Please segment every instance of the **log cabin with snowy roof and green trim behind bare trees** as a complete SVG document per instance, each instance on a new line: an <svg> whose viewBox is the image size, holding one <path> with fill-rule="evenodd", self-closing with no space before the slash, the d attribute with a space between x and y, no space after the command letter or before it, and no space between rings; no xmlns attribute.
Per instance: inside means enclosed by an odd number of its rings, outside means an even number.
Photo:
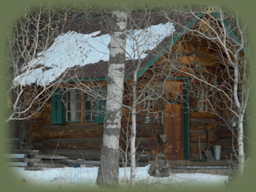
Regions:
<svg viewBox="0 0 256 192"><path fill-rule="evenodd" d="M214 145L222 146L221 159L229 158L233 153L233 134L219 115L225 116L226 111L221 106L217 108L218 113L212 110L211 102L218 101L207 99L208 94L214 93L204 83L226 75L220 60L220 54L224 54L209 39L191 33L207 33L209 26L217 23L207 14L172 19L170 22L163 16L152 16L150 23L134 29L134 34L143 36L143 39L135 36L142 42L141 50L133 47L131 34L127 37L126 55L130 57L127 56L125 63L120 151L128 150L131 117L125 105L131 105L134 68L140 65L137 95L141 99L136 116L138 161L158 155L175 160L205 159L204 151ZM71 159L99 160L110 42L107 21L104 22L99 18L67 21L64 32L31 61L36 67L14 79L27 87L27 97L33 91L31 82L45 87L61 81L43 110L26 120L25 142L32 149ZM234 34L229 35L236 39ZM139 49L140 63L135 49ZM36 78L31 80L31 76Z"/></svg>

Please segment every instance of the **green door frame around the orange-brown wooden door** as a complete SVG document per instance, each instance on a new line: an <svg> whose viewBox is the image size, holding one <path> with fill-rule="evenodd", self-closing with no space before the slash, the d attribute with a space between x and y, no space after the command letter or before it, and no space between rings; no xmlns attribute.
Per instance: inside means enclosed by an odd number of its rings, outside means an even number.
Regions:
<svg viewBox="0 0 256 192"><path fill-rule="evenodd" d="M173 76L171 78L167 78L168 80L173 81L183 81L183 144L184 144L184 159L189 160L190 156L190 147L189 147L189 131L190 131L190 123L189 123L189 106L190 106L190 77L187 76ZM164 91L165 94L165 91ZM164 95L165 97L165 95ZM163 116L164 118L164 116ZM163 123L163 132L165 132L164 123ZM164 153L164 147L163 147Z"/></svg>

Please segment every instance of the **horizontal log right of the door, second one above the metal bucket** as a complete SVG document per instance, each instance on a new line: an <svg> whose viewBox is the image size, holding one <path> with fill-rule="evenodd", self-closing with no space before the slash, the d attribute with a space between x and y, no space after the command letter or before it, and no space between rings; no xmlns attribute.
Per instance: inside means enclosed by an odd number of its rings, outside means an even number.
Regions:
<svg viewBox="0 0 256 192"><path fill-rule="evenodd" d="M218 123L213 119L202 119L190 117L190 130L206 130L205 125L208 125L209 130L216 129Z"/></svg>

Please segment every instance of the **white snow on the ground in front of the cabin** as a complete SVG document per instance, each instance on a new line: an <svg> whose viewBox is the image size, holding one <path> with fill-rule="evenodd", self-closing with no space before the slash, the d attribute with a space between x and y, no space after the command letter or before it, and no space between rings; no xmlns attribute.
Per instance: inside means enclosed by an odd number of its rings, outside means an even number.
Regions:
<svg viewBox="0 0 256 192"><path fill-rule="evenodd" d="M27 184L42 184L48 187L97 187L96 178L98 167L65 167L45 169L41 171L27 171L23 167L11 167L17 172L20 180L25 179ZM228 176L210 175L205 173L171 173L169 177L157 178L149 176L149 166L136 168L136 182L140 187L171 187L187 188L193 187L225 187ZM126 172L126 174L125 174ZM130 167L119 169L120 185L127 187L126 178L130 178Z"/></svg>

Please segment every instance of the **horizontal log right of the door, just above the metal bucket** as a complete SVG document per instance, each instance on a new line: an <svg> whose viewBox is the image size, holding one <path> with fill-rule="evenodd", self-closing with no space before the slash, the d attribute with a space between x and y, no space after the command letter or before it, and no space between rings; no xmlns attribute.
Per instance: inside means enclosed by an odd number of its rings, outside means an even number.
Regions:
<svg viewBox="0 0 256 192"><path fill-rule="evenodd" d="M198 142L198 135L201 143L207 143L206 138L207 131L206 130L190 130L190 142L196 143ZM208 141L210 143L215 143L219 138L214 134L214 131L208 131Z"/></svg>

